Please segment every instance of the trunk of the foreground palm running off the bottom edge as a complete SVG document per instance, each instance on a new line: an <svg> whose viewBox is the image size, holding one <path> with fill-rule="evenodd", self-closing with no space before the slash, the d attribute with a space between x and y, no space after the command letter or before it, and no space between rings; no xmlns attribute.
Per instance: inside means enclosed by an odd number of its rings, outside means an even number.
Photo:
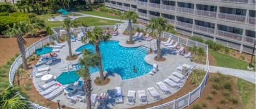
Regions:
<svg viewBox="0 0 256 109"><path fill-rule="evenodd" d="M84 79L85 84L85 92L86 92L86 105L87 109L91 109L91 91L92 91L92 83L91 83L91 76L90 74L86 79Z"/></svg>

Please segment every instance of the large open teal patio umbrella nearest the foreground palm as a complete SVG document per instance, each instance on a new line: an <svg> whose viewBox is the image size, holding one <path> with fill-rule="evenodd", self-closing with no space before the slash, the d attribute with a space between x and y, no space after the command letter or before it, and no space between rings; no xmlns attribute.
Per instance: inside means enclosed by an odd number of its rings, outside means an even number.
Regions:
<svg viewBox="0 0 256 109"><path fill-rule="evenodd" d="M75 71L62 72L61 75L57 77L57 81L62 85L73 84L78 81L79 76Z"/></svg>

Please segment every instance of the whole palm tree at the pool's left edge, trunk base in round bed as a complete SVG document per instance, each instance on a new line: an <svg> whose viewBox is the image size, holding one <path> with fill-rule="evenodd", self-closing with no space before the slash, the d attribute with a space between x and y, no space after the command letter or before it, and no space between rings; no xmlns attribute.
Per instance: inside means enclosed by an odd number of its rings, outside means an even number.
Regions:
<svg viewBox="0 0 256 109"><path fill-rule="evenodd" d="M82 42L86 42L88 40L88 43L93 44L95 47L95 52L97 55L100 57L100 49L99 49L99 43L100 41L106 41L110 38L110 35L102 35L102 28L95 27L93 31L87 31L86 37L82 39ZM104 81L104 74L102 70L102 60L101 57L96 63L97 66L99 67L99 77L100 77L100 82Z"/></svg>

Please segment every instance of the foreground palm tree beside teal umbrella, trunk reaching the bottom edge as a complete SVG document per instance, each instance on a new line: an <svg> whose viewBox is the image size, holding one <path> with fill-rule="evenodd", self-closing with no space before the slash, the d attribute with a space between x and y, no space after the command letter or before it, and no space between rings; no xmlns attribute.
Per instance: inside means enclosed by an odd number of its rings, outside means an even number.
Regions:
<svg viewBox="0 0 256 109"><path fill-rule="evenodd" d="M78 70L78 75L84 78L84 86L86 92L87 109L91 109L91 92L92 92L92 80L89 73L89 67L94 67L97 61L100 59L99 55L91 54L88 50L82 50L82 57L79 59L79 64L82 66Z"/></svg>

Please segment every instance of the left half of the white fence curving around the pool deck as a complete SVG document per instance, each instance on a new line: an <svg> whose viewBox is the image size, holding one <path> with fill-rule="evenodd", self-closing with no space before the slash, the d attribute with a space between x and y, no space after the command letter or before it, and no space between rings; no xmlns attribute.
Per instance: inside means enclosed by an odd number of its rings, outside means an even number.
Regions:
<svg viewBox="0 0 256 109"><path fill-rule="evenodd" d="M102 25L99 26L100 28L109 28L110 30L114 30L115 25ZM82 27L82 28L75 28L73 29L74 33L80 33L88 31L88 30L92 30L94 27ZM26 48L25 50L25 54L26 54L26 58L33 55L35 50L38 48L43 47L45 44L47 43L51 43L53 42L53 40L58 39L59 37L59 30L62 29L62 27L55 27L55 28L51 28L53 31L53 35L49 35L47 37L45 37L44 39L40 39L39 41L33 43L31 46L29 46L28 48ZM15 71L19 68L19 66L22 65L22 59L21 56L19 55L15 61L13 62L13 64L10 67L9 70L9 84L11 86L13 86L13 80L14 80L14 75L15 75ZM39 106L38 104L34 104L33 102L31 102L31 107L30 108L37 108L37 109L49 109L43 106Z"/></svg>

